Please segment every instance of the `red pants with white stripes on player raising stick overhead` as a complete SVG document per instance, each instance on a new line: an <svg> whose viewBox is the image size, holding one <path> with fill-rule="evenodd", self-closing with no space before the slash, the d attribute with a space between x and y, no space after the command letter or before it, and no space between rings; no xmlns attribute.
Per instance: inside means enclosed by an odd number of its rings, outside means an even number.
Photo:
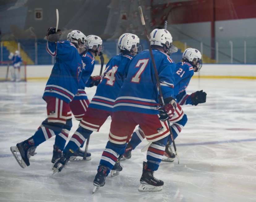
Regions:
<svg viewBox="0 0 256 202"><path fill-rule="evenodd" d="M67 119L71 119L72 114L70 111L69 104L64 102L61 99L55 99L55 111L52 111L54 108L53 102L47 104L47 121L51 123L63 123L66 124Z"/></svg>

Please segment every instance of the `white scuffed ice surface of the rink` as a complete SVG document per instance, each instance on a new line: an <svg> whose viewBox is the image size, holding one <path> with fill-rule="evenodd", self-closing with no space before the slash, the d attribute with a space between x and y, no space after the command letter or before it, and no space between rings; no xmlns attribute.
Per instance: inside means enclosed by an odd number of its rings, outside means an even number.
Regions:
<svg viewBox="0 0 256 202"><path fill-rule="evenodd" d="M54 137L37 147L31 165L21 168L10 147L32 136L46 118L41 98L46 81L0 83L0 201L14 202L250 202L256 201L256 81L192 79L188 93L207 92L207 102L184 106L188 122L176 139L181 164L162 162L155 176L161 192L138 192L144 140L122 162L119 176L108 177L92 195L92 181L108 141L110 119L91 135L92 160L69 162L52 175ZM86 89L90 99L96 88ZM73 133L78 121L73 119Z"/></svg>

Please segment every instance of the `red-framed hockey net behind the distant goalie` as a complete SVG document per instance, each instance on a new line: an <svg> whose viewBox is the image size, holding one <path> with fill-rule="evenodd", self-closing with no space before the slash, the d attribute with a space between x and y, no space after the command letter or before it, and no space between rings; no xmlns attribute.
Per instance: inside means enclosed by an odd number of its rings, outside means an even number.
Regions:
<svg viewBox="0 0 256 202"><path fill-rule="evenodd" d="M0 61L0 81L12 81L13 65L11 61ZM20 81L27 81L27 63L23 62L19 68Z"/></svg>

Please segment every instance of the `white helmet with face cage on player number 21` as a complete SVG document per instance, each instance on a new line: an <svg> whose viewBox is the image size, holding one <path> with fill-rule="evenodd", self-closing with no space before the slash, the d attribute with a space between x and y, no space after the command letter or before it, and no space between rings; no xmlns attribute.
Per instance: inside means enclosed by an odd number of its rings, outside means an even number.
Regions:
<svg viewBox="0 0 256 202"><path fill-rule="evenodd" d="M193 65L195 72L203 66L202 55L195 48L187 48L182 54L182 59Z"/></svg>

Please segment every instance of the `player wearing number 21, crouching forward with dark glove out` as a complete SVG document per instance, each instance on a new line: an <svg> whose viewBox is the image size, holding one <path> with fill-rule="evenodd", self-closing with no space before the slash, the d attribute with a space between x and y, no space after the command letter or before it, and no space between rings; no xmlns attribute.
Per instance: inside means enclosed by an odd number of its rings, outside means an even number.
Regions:
<svg viewBox="0 0 256 202"><path fill-rule="evenodd" d="M174 95L177 103L179 105L191 104L198 105L199 103L206 102L206 93L201 91L196 91L191 95L186 94L186 88L189 85L190 79L194 75L194 72L198 72L203 65L202 55L200 51L194 48L187 48L182 55L182 61L176 64L174 71ZM181 107L177 106L175 111L175 116L170 120L171 129L173 132L173 138L177 138L183 127L187 122L187 116L183 113ZM139 143L145 138L143 131L139 128L136 130L130 142L127 144L126 151L123 155L123 159L131 158L131 151L139 145ZM171 137L168 137L168 144L165 147L164 157L162 161L173 162L175 154L171 149Z"/></svg>

